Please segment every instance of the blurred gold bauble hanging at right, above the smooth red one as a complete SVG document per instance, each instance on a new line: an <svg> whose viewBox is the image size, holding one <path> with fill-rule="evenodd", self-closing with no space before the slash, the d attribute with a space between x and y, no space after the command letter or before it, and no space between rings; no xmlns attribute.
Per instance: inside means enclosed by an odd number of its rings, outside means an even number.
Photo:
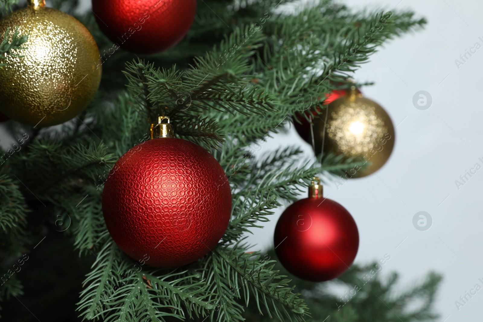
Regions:
<svg viewBox="0 0 483 322"><path fill-rule="evenodd" d="M355 157L364 165L346 171L350 178L365 177L386 163L395 134L389 115L379 104L362 97L353 86L345 97L330 103L326 113L313 122L316 154L323 149L324 153Z"/></svg>

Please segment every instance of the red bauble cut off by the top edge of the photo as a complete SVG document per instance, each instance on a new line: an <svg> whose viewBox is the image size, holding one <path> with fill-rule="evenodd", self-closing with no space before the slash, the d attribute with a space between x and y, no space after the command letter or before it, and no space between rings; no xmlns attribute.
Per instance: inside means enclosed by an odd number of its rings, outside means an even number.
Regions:
<svg viewBox="0 0 483 322"><path fill-rule="evenodd" d="M114 44L151 54L185 37L195 17L196 0L92 0L92 11Z"/></svg>

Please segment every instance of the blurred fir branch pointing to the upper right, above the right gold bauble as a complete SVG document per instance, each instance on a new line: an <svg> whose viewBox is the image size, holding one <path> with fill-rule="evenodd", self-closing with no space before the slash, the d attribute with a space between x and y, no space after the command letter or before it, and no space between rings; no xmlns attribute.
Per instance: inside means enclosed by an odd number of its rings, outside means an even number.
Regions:
<svg viewBox="0 0 483 322"><path fill-rule="evenodd" d="M399 19L402 22L394 24ZM347 83L350 73L383 42L426 23L407 13L352 14L332 1L272 22L264 29L270 37L253 67L260 73L259 84L286 105L298 105L303 98L313 106L323 102L325 94L337 87L334 84Z"/></svg>

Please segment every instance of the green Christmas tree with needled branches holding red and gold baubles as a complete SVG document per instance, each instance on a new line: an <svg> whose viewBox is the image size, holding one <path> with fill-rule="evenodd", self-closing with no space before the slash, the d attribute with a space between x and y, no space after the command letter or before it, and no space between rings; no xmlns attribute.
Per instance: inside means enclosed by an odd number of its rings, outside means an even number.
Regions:
<svg viewBox="0 0 483 322"><path fill-rule="evenodd" d="M1 0L3 14L20 8L17 2ZM379 46L422 28L424 19L404 11L353 12L329 0L200 0L181 42L141 56L113 51L93 12L76 14L79 1L47 4L92 33L102 80L88 108L62 126L5 124L16 144L3 152L0 170L4 321L437 318L435 273L403 293L395 288L396 273L387 280L375 273L377 263L353 265L331 282L307 282L288 273L273 250L250 252L244 241L282 200L297 200L313 176L329 180L360 165L334 154L300 164L297 147L254 155L254 146L290 126L308 108L301 104L312 100L311 111L322 112L326 94L351 86L352 73ZM1 37L0 63L22 55L28 34L12 28ZM101 206L107 174L149 138L161 115L170 117L176 137L216 158L232 193L230 223L216 247L169 269L122 252ZM331 293L334 283L346 291Z"/></svg>

